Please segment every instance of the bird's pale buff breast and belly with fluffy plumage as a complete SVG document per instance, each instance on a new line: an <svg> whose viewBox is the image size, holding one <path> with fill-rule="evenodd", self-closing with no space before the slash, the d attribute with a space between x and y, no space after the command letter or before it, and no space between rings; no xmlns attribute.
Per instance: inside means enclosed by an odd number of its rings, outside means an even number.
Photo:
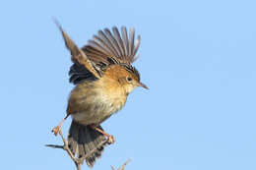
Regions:
<svg viewBox="0 0 256 170"><path fill-rule="evenodd" d="M125 105L127 95L118 88L106 89L105 86L83 85L70 96L76 102L77 110L72 114L73 119L83 124L100 124L113 113L118 112ZM69 101L70 103L70 101Z"/></svg>

